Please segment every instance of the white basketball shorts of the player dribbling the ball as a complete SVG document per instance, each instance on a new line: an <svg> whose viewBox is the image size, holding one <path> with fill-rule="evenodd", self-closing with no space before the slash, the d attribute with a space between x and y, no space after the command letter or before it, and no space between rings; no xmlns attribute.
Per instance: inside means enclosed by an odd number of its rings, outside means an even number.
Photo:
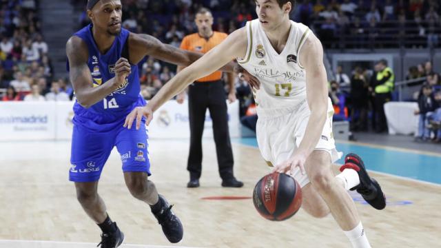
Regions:
<svg viewBox="0 0 441 248"><path fill-rule="evenodd" d="M263 158L269 166L287 161L305 135L306 126L311 115L307 101L283 109L259 110L258 108L257 114L256 136ZM332 134L333 114L334 109L331 99L328 98L328 116L315 150L329 152L331 163L338 161L342 156L342 153L336 149ZM297 180L301 187L309 183L307 174L302 175L298 167L291 176Z"/></svg>

